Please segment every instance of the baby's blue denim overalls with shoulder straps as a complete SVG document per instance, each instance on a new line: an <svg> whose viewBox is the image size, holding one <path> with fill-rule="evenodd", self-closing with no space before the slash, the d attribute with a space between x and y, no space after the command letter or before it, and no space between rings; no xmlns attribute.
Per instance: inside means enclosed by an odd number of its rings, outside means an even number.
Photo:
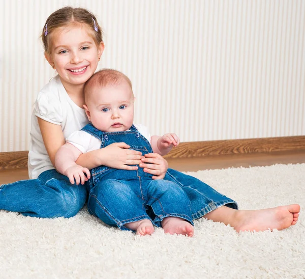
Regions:
<svg viewBox="0 0 305 279"><path fill-rule="evenodd" d="M91 123L83 131L99 138L101 148L124 142L142 155L153 150L147 139L132 125L129 131L102 132ZM88 210L110 226L130 230L129 222L149 219L157 227L165 217L180 217L193 225L191 202L175 182L153 180L142 168L135 171L99 166L91 171Z"/></svg>

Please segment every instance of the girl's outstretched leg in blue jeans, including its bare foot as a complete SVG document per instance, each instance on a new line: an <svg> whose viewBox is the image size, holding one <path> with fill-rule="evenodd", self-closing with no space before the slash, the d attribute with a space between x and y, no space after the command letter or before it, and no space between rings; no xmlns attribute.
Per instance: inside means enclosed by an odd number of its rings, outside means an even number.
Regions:
<svg viewBox="0 0 305 279"><path fill-rule="evenodd" d="M261 210L236 210L237 204L199 179L168 169L164 179L174 181L187 193L193 219L204 216L209 220L230 224L236 231L282 230L295 225L299 205L279 206Z"/></svg>

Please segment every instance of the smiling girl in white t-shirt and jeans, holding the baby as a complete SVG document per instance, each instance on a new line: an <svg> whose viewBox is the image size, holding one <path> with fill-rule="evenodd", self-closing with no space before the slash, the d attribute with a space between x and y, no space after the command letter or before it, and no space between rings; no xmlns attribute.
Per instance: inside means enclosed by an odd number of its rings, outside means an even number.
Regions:
<svg viewBox="0 0 305 279"><path fill-rule="evenodd" d="M28 169L31 180L0 186L0 209L36 217L74 216L86 201L82 181L72 185L54 169L54 156L65 138L88 123L82 106L84 83L92 76L104 50L96 17L85 9L65 7L52 13L43 28L45 58L58 75L38 94L32 115ZM263 210L236 210L237 205L198 179L174 170L156 153L141 156L124 143L82 154L77 164L88 169L107 165L144 172L178 183L191 201L192 218L230 224L236 231L285 229L295 225L299 205ZM164 177L165 176L165 177Z"/></svg>

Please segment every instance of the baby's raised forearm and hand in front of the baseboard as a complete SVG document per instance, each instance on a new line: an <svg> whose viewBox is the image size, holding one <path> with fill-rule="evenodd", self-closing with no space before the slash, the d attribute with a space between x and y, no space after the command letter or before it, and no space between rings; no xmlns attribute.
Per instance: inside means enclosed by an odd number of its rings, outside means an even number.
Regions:
<svg viewBox="0 0 305 279"><path fill-rule="evenodd" d="M150 138L150 144L154 153L158 153L161 156L166 155L175 146L180 143L179 137L174 133L165 134L163 136L153 135Z"/></svg>

